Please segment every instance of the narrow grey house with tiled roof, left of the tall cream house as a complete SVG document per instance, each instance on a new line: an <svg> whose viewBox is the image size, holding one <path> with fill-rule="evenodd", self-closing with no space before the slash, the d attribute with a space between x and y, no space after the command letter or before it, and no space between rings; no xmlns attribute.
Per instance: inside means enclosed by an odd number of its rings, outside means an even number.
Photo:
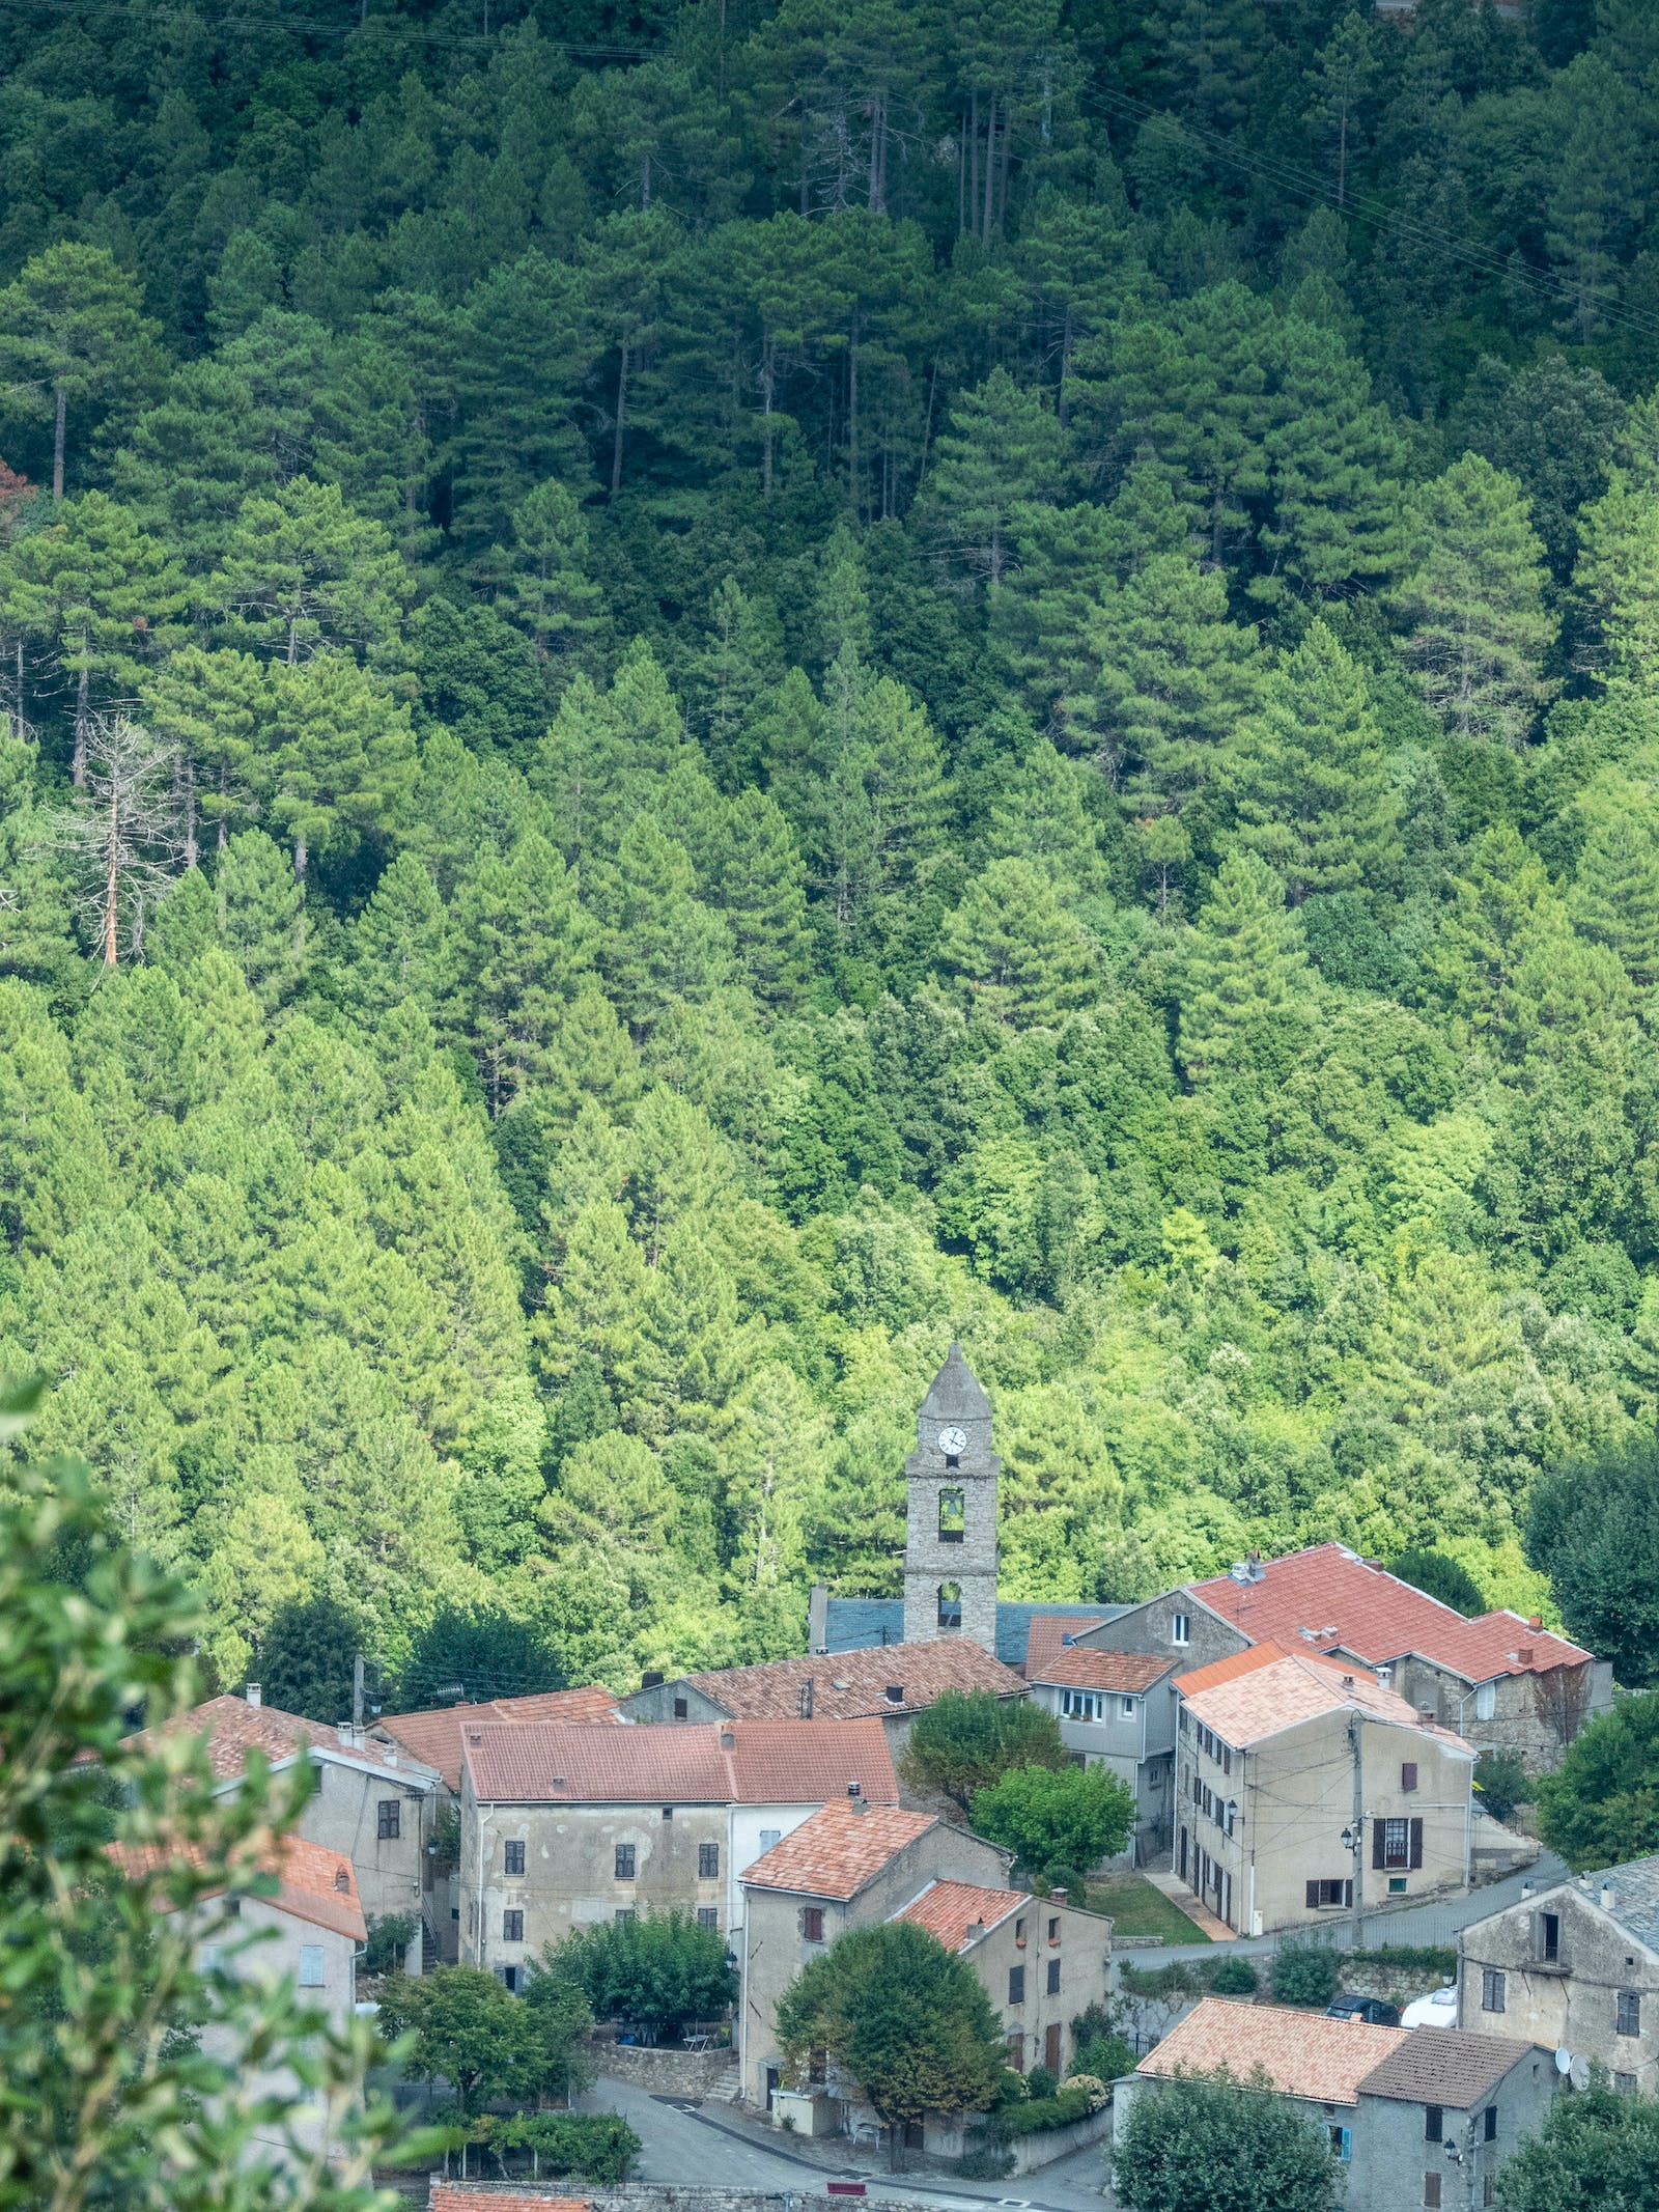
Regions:
<svg viewBox="0 0 1659 2212"><path fill-rule="evenodd" d="M1037 1619L1026 1646L1031 1697L1060 1723L1079 1765L1104 1765L1135 1792L1130 1865L1170 1856L1175 1803L1175 1652L1119 1652L1082 1644L1088 1619Z"/></svg>

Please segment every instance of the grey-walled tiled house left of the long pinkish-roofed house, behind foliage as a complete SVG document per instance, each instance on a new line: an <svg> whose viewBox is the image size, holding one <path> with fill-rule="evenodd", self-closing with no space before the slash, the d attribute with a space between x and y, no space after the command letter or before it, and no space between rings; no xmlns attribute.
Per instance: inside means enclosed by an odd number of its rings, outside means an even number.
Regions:
<svg viewBox="0 0 1659 2212"><path fill-rule="evenodd" d="M208 1763L221 1792L241 1785L250 1752L263 1752L272 1774L290 1774L310 1761L314 1787L296 1834L352 1863L354 1891L369 1920L414 1918L407 1964L420 1971L427 1843L438 1792L434 1767L363 1728L327 1728L265 1705L257 1683L248 1683L246 1697L212 1697L192 1705L168 1725L208 1739Z"/></svg>

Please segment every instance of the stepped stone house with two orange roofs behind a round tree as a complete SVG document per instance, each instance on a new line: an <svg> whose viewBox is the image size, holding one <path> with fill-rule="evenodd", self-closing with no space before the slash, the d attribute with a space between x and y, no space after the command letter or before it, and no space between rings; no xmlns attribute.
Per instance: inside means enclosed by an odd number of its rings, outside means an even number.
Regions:
<svg viewBox="0 0 1659 2212"><path fill-rule="evenodd" d="M739 1947L741 2095L801 2132L874 2128L856 2084L783 2088L776 2006L803 1966L847 1929L914 1920L973 1966L1002 2022L1009 2064L1064 2073L1071 2020L1106 1997L1110 1920L1009 1887L1009 1854L911 1807L825 1805L743 1876ZM920 2148L920 2146L916 2146ZM929 2121L925 2148L956 2157L958 2121Z"/></svg>

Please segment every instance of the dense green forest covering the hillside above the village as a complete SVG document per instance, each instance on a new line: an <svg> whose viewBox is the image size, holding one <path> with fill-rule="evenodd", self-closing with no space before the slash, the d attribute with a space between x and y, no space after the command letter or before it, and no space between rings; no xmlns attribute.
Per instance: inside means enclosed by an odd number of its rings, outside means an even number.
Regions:
<svg viewBox="0 0 1659 2212"><path fill-rule="evenodd" d="M0 1367L571 1679L1659 1407L1648 0L11 0Z"/></svg>

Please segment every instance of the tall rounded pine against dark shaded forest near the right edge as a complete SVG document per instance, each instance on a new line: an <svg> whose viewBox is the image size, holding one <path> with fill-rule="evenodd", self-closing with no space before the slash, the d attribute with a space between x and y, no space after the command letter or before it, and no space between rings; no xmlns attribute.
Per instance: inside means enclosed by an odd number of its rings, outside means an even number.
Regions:
<svg viewBox="0 0 1659 2212"><path fill-rule="evenodd" d="M1411 500L1394 595L1425 701L1458 737L1524 745L1555 635L1544 546L1513 476L1464 453Z"/></svg>

